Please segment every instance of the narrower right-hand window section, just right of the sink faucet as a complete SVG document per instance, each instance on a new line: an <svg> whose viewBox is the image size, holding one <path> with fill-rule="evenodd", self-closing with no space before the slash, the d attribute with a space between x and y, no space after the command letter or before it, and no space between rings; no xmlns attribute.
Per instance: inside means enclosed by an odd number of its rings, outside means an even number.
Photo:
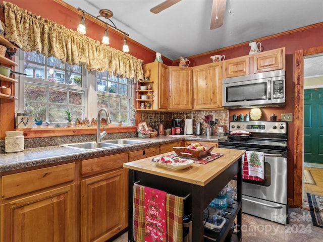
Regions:
<svg viewBox="0 0 323 242"><path fill-rule="evenodd" d="M96 72L97 108L105 108L112 122L130 121L131 81L107 72Z"/></svg>

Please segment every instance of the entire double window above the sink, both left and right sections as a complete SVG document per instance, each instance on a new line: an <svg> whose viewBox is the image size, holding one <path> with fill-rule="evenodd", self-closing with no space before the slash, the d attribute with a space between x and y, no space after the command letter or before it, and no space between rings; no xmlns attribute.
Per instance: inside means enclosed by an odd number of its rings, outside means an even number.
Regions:
<svg viewBox="0 0 323 242"><path fill-rule="evenodd" d="M113 123L130 121L130 80L107 72L87 72L84 67L64 64L36 51L18 53L19 72L26 74L19 82L20 112L28 112L37 120L65 124L65 110L73 111L79 119L91 119L96 118L98 109L106 108ZM95 102L97 110L88 107Z"/></svg>

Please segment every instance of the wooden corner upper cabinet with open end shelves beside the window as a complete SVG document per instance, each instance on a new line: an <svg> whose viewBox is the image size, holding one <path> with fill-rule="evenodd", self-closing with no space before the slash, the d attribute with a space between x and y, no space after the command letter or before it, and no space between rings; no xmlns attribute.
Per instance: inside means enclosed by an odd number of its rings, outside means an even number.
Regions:
<svg viewBox="0 0 323 242"><path fill-rule="evenodd" d="M160 62L152 62L143 65L143 71L146 74L150 74L148 80L145 80L144 83L139 83L138 86L147 85L151 87L151 90L137 90L138 98L140 99L141 95L148 95L148 103L151 103L152 110L167 110L169 103L169 81L167 75L168 66ZM149 89L150 89L149 87ZM138 87L140 88L140 87ZM147 88L148 89L148 88ZM137 100L137 108L140 108L140 105L143 101ZM149 104L148 104L149 105Z"/></svg>

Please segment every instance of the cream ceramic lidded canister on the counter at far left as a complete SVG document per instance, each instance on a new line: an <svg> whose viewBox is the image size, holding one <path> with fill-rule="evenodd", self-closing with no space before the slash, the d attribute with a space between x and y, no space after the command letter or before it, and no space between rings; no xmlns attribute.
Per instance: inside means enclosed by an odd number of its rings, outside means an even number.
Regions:
<svg viewBox="0 0 323 242"><path fill-rule="evenodd" d="M6 131L5 151L7 153L20 152L25 148L23 131Z"/></svg>

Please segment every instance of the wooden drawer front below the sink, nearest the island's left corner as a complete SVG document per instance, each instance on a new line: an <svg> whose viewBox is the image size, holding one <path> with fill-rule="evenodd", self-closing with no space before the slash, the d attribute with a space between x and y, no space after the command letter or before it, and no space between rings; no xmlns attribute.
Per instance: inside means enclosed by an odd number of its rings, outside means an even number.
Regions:
<svg viewBox="0 0 323 242"><path fill-rule="evenodd" d="M107 155L82 161L82 177L122 168L122 164L127 162L126 154Z"/></svg>

